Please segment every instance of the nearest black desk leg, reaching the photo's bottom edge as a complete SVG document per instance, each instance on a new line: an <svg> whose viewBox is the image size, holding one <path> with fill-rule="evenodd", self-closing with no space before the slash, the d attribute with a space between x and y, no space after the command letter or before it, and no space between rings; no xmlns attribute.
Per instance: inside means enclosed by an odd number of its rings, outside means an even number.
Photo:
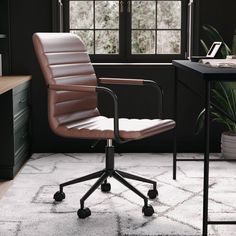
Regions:
<svg viewBox="0 0 236 236"><path fill-rule="evenodd" d="M205 153L203 180L203 236L207 236L208 229L208 190L209 190L209 139L210 139L210 81L205 84Z"/></svg>

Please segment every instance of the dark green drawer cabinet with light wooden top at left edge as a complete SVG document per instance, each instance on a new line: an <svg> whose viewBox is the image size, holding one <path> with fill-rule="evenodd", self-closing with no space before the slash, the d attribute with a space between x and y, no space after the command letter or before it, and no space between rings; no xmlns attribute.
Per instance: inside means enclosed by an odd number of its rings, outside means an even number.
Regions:
<svg viewBox="0 0 236 236"><path fill-rule="evenodd" d="M13 179L30 156L30 77L0 77L0 91L14 79L0 94L0 179Z"/></svg>

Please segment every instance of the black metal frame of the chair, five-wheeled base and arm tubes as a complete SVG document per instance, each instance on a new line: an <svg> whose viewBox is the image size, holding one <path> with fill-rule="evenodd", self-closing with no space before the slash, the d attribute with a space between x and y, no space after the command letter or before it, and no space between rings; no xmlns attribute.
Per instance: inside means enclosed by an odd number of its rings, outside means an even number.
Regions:
<svg viewBox="0 0 236 236"><path fill-rule="evenodd" d="M161 109L159 112L159 116L162 117L162 107L163 107L163 91L161 87L152 80L144 80L143 85L151 85L155 88L157 88L159 94L161 95ZM50 89L50 88L49 88ZM96 88L97 92L106 92L111 95L113 102L114 102L114 136L115 141L117 143L125 143L131 140L123 140L119 136L119 115L118 115L118 102L117 102L117 96L116 94L109 88L97 86ZM175 139L174 139L175 140ZM176 156L175 152L175 142L174 142L174 153L173 155ZM85 195L80 199L80 209L78 210L77 214L79 218L86 218L91 215L91 211L89 208L84 207L85 200L101 185L101 190L103 192L109 192L111 189L110 184L107 182L108 177L114 177L117 181L125 185L127 188L132 190L134 193L136 193L138 196L140 196L144 200L144 206L142 208L142 212L145 216L152 216L154 213L154 209L151 205L148 205L148 198L142 194L138 189L136 189L133 185L131 185L127 179L137 180L145 183L149 183L153 185L153 188L150 189L147 193L150 199L154 199L158 196L157 191L157 184L155 181L133 175L127 172L123 172L120 170L114 169L114 146L112 144L112 139L107 140L107 146L105 147L105 155L106 155L106 166L105 169L62 183L60 184L59 191L54 194L55 201L62 201L65 198L65 193L63 192L63 188L68 185L88 181L91 179L98 178L98 180L94 183L94 185L85 193Z"/></svg>

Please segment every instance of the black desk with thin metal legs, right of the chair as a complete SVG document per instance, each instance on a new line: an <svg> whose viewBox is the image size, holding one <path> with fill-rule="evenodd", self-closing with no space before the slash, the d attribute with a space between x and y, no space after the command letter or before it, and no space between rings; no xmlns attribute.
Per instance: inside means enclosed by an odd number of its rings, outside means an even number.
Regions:
<svg viewBox="0 0 236 236"><path fill-rule="evenodd" d="M172 62L175 67L175 101L174 101L174 119L177 123L177 93L178 93L178 72L184 70L194 73L199 79L205 83L204 88L204 104L205 104L205 151L204 151L204 180L203 180L203 236L207 236L208 224L236 224L236 221L209 221L208 220L208 188L209 188L209 137L210 137L210 100L211 81L236 81L236 69L231 68L212 68L196 62L188 60L178 60ZM190 77L191 79L191 77ZM213 104L214 105L214 104ZM222 111L224 112L224 111ZM235 121L235 120L234 120ZM175 129L175 137L177 126ZM176 153L176 140L174 145L174 153ZM173 160L173 178L176 178L176 154Z"/></svg>

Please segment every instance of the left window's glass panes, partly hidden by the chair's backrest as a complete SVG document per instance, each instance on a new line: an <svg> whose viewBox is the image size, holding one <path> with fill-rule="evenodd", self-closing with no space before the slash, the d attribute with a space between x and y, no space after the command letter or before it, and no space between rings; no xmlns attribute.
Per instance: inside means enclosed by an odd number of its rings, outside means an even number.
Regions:
<svg viewBox="0 0 236 236"><path fill-rule="evenodd" d="M69 16L90 54L119 53L119 1L69 1Z"/></svg>

